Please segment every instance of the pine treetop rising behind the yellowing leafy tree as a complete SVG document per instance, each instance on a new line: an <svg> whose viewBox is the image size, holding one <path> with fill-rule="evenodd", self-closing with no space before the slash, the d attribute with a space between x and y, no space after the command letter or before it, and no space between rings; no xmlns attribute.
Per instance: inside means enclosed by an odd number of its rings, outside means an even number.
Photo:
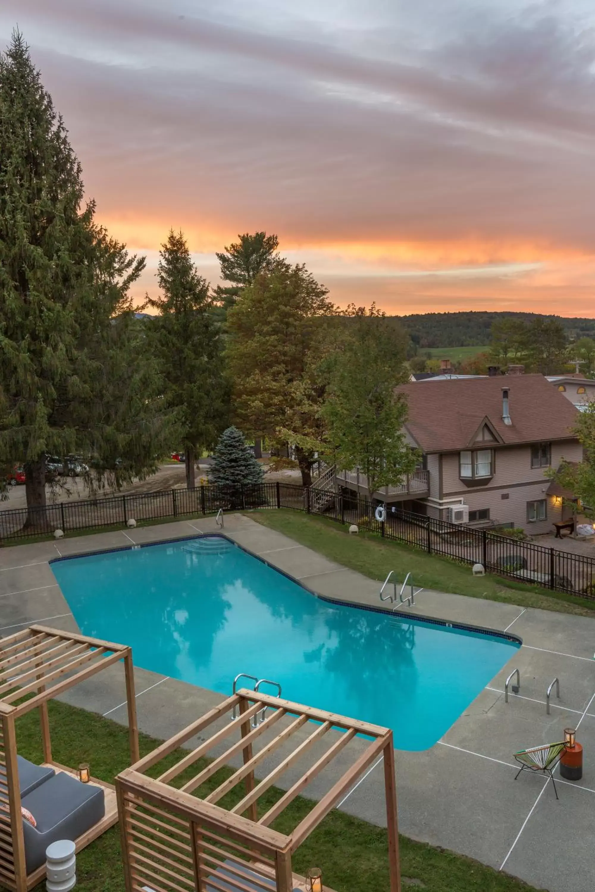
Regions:
<svg viewBox="0 0 595 892"><path fill-rule="evenodd" d="M244 233L237 236L239 241L229 244L225 252L218 252L221 278L231 285L218 285L215 297L220 301L224 312L234 305L244 288L252 285L254 279L264 270L272 269L279 255L277 235L266 232Z"/></svg>

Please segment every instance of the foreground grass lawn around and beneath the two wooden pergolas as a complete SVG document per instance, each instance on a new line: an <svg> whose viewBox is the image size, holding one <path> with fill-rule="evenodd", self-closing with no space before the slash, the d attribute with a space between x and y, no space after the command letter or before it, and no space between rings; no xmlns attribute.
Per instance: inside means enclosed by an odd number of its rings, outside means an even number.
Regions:
<svg viewBox="0 0 595 892"><path fill-rule="evenodd" d="M87 713L73 706L50 701L54 759L67 765L89 762L95 777L112 781L128 764L128 729ZM37 710L24 715L17 723L19 753L34 762L43 760ZM161 741L140 736L141 755ZM156 773L178 761L179 753L155 766ZM196 765L190 772L194 774ZM201 788L202 795L214 789L231 771L221 769ZM181 774L178 782L186 780ZM238 789L221 800L230 807L244 789ZM263 809L281 796L278 789L269 789L262 797ZM298 797L273 826L280 831L293 829L311 802ZM387 892L388 865L385 831L339 811L329 814L293 857L293 870L305 874L312 864L323 868L325 884L336 892ZM520 880L499 873L490 867L453 852L426 846L401 837L401 871L407 880L403 888L425 888L427 892L521 892L530 889ZM77 887L81 892L124 892L120 856L120 831L113 827L103 837L77 855ZM45 884L37 886L45 890Z"/></svg>

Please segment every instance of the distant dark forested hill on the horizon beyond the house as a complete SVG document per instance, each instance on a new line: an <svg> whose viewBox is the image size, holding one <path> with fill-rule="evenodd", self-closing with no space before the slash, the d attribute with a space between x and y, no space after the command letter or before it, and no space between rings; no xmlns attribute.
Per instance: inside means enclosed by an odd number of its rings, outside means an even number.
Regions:
<svg viewBox="0 0 595 892"><path fill-rule="evenodd" d="M539 313L414 313L401 316L401 323L409 331L411 340L419 347L475 347L490 343L490 329L494 319L514 316L529 320ZM595 336L595 319L558 318L566 330L566 336L574 340Z"/></svg>

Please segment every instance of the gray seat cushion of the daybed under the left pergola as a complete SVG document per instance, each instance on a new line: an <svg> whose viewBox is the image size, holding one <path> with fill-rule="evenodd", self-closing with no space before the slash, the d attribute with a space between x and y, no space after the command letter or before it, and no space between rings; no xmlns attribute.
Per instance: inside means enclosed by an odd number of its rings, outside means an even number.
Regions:
<svg viewBox="0 0 595 892"><path fill-rule="evenodd" d="M103 788L59 772L21 800L37 821L23 821L27 872L45 862L45 849L58 839L78 838L105 814Z"/></svg>

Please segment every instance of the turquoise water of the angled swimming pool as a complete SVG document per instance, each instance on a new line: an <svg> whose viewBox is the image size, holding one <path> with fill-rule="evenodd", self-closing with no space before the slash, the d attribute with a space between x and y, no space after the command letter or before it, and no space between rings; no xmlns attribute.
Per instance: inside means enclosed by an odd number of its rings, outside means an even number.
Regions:
<svg viewBox="0 0 595 892"><path fill-rule="evenodd" d="M136 665L226 695L237 673L273 679L285 698L392 728L401 749L433 746L518 646L330 604L221 539L52 570L82 632L131 645Z"/></svg>

